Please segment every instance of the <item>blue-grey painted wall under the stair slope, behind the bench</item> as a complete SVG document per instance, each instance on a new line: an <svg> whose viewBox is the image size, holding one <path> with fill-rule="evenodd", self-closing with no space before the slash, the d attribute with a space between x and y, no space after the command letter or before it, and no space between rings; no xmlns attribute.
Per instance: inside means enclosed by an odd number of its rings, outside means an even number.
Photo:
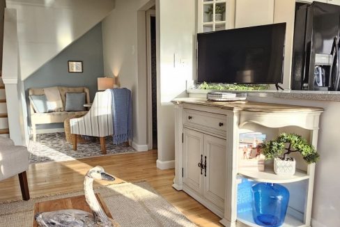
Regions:
<svg viewBox="0 0 340 227"><path fill-rule="evenodd" d="M68 72L68 61L70 60L83 61L83 72ZM102 23L99 23L24 80L29 125L31 125L28 95L29 88L86 86L90 89L90 98L92 102L95 92L98 91L97 78L103 76ZM63 127L63 124L38 125L37 128L45 129L58 127Z"/></svg>

